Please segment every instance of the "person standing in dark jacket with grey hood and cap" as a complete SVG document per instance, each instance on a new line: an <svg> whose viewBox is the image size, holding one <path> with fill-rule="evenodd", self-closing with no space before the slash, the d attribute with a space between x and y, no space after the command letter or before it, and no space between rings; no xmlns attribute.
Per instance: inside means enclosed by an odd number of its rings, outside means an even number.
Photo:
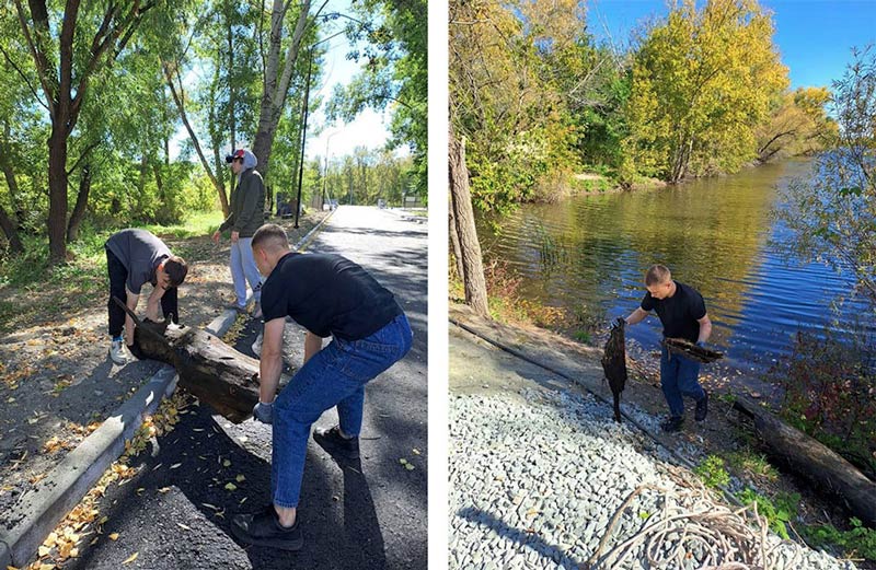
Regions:
<svg viewBox="0 0 876 570"><path fill-rule="evenodd" d="M265 223L265 184L255 170L258 160L247 149L238 149L226 156L238 184L231 191L231 213L212 234L217 244L226 230L231 230L231 280L234 283L235 300L229 305L238 312L246 310L246 282L253 290L255 309L253 316L262 316L262 276L255 266L250 247L253 234Z"/></svg>

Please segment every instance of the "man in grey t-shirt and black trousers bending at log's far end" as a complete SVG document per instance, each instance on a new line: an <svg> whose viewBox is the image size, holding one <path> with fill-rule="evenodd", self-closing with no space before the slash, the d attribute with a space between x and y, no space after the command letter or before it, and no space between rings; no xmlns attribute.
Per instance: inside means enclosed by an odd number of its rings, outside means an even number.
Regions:
<svg viewBox="0 0 876 570"><path fill-rule="evenodd" d="M174 323L180 322L176 288L185 280L188 266L185 259L171 254L164 242L146 230L128 229L113 234L104 245L106 270L110 272L110 358L116 364L127 364L134 358L134 319L113 302L116 296L128 309L137 310L140 288L152 283L152 293L146 303L146 317L160 321L158 306ZM125 335L122 335L122 328Z"/></svg>

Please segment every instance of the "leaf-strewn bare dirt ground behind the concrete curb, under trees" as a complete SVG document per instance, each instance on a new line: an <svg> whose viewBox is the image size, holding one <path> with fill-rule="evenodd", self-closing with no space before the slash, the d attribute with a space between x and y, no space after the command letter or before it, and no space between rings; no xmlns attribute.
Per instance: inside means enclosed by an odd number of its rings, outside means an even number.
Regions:
<svg viewBox="0 0 876 570"><path fill-rule="evenodd" d="M272 220L297 243L325 218ZM233 300L230 243L161 236L189 263L180 289L180 322L205 326ZM0 290L0 512L32 489L159 368L110 360L108 280ZM148 296L150 288L143 290ZM146 303L140 302L140 314Z"/></svg>

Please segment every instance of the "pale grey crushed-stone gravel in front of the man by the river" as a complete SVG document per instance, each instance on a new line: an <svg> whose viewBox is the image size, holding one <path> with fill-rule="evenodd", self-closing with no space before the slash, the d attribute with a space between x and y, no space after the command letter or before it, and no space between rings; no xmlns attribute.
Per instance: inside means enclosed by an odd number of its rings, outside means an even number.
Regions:
<svg viewBox="0 0 876 570"><path fill-rule="evenodd" d="M505 395L450 400L451 569L580 567L638 486L678 489L666 475L671 455L627 423L615 423L609 406L566 392L520 395L523 402ZM627 411L659 429L652 416L633 406ZM690 446L683 454L702 452ZM654 493L636 497L603 554L637 533L664 502ZM779 537L772 539L779 545ZM802 560L795 568L854 568L793 543L779 548L785 565ZM622 568L653 566L639 551Z"/></svg>

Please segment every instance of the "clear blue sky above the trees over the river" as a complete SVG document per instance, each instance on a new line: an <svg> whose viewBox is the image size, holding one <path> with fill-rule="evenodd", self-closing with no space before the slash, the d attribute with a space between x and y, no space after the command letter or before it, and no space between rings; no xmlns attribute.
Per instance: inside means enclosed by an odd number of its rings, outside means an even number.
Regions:
<svg viewBox="0 0 876 570"><path fill-rule="evenodd" d="M698 1L698 4L701 2ZM876 43L876 0L761 0L773 12L782 62L791 88L826 85L842 77L851 48ZM668 13L662 0L590 0L588 28L598 39L629 43L649 16Z"/></svg>

